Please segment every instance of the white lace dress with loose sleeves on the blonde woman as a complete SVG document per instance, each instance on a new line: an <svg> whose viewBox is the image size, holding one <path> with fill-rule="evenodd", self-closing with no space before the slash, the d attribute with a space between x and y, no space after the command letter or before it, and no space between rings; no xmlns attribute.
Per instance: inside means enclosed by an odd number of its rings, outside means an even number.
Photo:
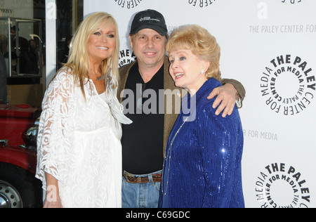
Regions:
<svg viewBox="0 0 316 222"><path fill-rule="evenodd" d="M123 115L110 81L98 95L93 81L86 100L72 74L62 70L48 86L37 138L37 178L58 180L62 206L121 207L121 124ZM48 188L48 193L49 192Z"/></svg>

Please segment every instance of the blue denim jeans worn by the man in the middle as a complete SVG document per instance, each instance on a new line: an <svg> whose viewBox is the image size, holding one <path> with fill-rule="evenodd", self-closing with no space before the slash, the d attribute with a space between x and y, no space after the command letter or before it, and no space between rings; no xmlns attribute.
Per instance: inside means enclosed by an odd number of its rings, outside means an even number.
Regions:
<svg viewBox="0 0 316 222"><path fill-rule="evenodd" d="M161 174L157 171L152 174ZM159 190L161 183L154 183L152 174L133 175L135 177L147 177L150 183L129 183L123 176L121 188L122 208L158 208Z"/></svg>

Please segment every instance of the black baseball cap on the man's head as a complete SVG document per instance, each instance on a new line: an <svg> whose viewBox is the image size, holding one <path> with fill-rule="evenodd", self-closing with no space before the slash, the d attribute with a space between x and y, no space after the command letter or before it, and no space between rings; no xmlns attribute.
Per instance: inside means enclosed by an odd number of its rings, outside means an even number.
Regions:
<svg viewBox="0 0 316 222"><path fill-rule="evenodd" d="M151 9L137 13L131 25L131 34L137 34L144 29L155 30L162 36L166 36L168 29L164 15Z"/></svg>

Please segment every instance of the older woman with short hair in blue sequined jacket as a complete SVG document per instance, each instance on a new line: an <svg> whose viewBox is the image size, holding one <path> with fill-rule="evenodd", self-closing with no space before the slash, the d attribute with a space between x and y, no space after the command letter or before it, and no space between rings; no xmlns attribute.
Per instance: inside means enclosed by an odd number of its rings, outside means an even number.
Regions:
<svg viewBox="0 0 316 222"><path fill-rule="evenodd" d="M182 111L170 133L159 207L244 207L238 110L218 117L206 99L220 86L220 47L207 30L190 25L174 31L166 48L171 77L188 91L183 105L195 99L196 107L195 115Z"/></svg>

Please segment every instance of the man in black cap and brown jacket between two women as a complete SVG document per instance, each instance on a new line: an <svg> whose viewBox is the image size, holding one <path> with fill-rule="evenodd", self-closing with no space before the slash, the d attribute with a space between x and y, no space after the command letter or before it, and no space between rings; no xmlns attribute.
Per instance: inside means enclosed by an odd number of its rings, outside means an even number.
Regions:
<svg viewBox="0 0 316 222"><path fill-rule="evenodd" d="M121 102L124 104L124 100L131 100L121 93L124 89L133 91L133 95L148 89L154 91L156 95L159 95L159 90L177 89L169 74L170 63L166 56L168 30L164 16L154 10L137 13L133 18L129 38L137 59L119 70L118 92L123 97ZM222 84L225 86L215 89L210 94L210 99L218 95L213 105L217 107L220 104L216 111L217 115L224 110L223 117L225 117L231 114L238 97L239 100L243 100L245 91L242 84L233 79L224 79ZM164 150L178 113L168 114L166 100L164 103L159 103L157 98L157 107L155 107L157 112L145 114L142 112L142 106L148 99L152 100L145 96L133 98L135 112L126 114L126 117L133 120L133 124L122 126L123 208L158 207ZM159 108L159 105L164 107ZM140 112L137 112L139 109ZM159 112L161 109L165 110L164 114Z"/></svg>

